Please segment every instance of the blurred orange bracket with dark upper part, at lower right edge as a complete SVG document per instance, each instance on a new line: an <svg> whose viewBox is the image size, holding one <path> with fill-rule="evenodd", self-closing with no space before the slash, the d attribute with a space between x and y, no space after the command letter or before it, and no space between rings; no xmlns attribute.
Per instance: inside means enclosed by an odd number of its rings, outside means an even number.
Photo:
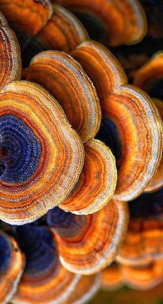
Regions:
<svg viewBox="0 0 163 304"><path fill-rule="evenodd" d="M163 258L163 189L144 193L129 204L131 215L117 261L142 266Z"/></svg>

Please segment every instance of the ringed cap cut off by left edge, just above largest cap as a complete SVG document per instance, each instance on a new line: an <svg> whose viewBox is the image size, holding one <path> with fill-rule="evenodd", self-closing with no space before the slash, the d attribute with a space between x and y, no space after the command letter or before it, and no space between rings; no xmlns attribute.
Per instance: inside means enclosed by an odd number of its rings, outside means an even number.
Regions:
<svg viewBox="0 0 163 304"><path fill-rule="evenodd" d="M21 76L21 57L15 33L0 12L0 90Z"/></svg>

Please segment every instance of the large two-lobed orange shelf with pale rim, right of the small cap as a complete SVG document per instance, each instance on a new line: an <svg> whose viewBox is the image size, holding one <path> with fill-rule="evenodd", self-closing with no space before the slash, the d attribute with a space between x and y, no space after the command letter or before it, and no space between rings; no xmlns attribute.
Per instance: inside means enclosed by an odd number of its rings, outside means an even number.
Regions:
<svg viewBox="0 0 163 304"><path fill-rule="evenodd" d="M111 147L117 159L114 197L131 200L142 193L159 166L160 114L145 93L127 85L122 66L104 46L84 42L72 55L97 89L103 114L97 138Z"/></svg>

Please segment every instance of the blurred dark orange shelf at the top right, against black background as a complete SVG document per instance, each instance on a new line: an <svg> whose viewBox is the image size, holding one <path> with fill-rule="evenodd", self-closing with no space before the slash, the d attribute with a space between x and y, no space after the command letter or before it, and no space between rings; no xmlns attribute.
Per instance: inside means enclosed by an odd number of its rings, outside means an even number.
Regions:
<svg viewBox="0 0 163 304"><path fill-rule="evenodd" d="M137 0L52 0L76 13L100 42L117 46L133 44L146 33L146 17ZM85 21L85 22L84 22ZM88 26L88 24L90 26ZM88 26L88 27L87 27Z"/></svg>

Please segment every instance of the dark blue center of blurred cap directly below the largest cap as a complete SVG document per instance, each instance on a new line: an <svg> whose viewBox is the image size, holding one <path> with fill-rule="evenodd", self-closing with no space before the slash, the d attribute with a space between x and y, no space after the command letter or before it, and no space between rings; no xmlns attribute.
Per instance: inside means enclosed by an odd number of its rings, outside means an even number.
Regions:
<svg viewBox="0 0 163 304"><path fill-rule="evenodd" d="M44 274L55 262L52 233L44 226L26 224L17 227L18 243L26 254L25 272L30 277Z"/></svg>

